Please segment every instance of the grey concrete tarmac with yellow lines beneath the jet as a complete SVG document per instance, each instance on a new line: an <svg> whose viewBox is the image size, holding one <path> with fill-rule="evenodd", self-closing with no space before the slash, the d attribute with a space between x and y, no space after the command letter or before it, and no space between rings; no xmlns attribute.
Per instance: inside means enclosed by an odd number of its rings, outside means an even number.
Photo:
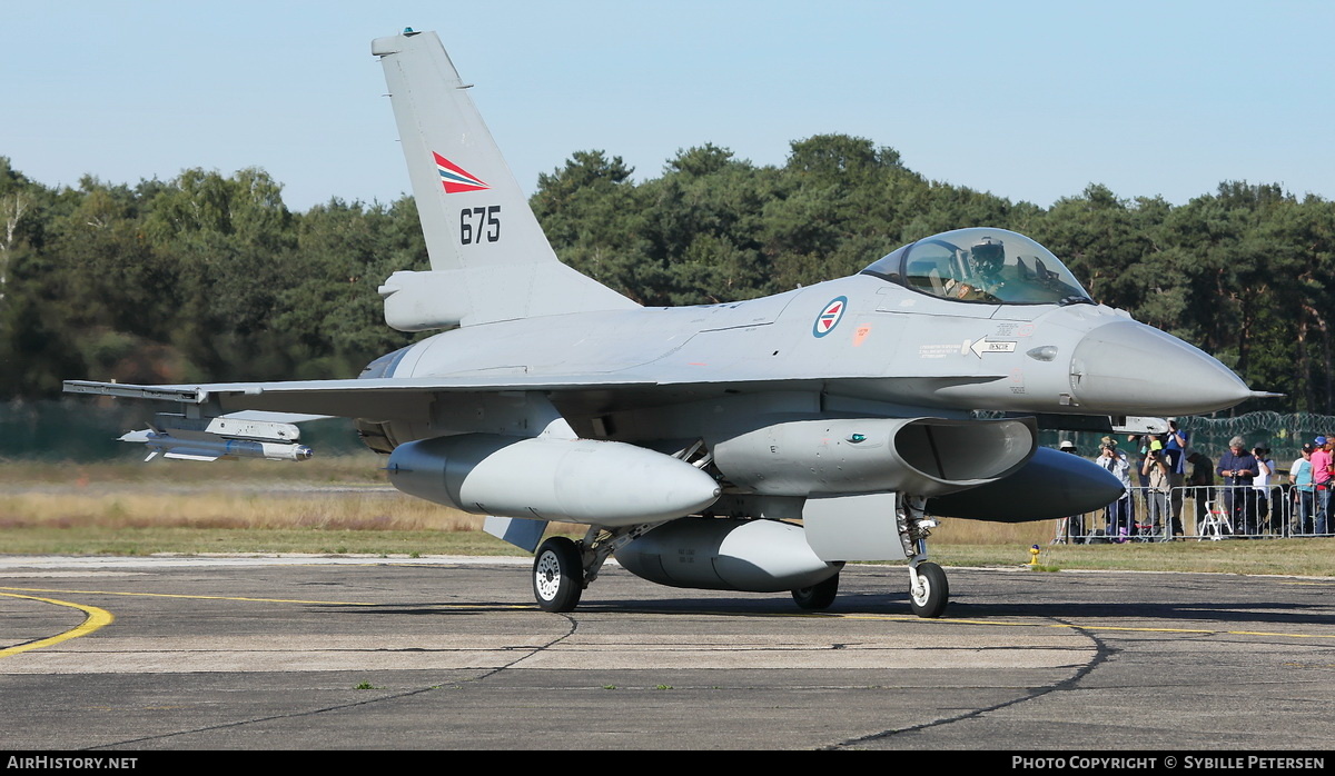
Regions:
<svg viewBox="0 0 1335 776"><path fill-rule="evenodd" d="M11 749L1326 749L1335 580L849 567L825 613L503 559L0 559Z"/></svg>

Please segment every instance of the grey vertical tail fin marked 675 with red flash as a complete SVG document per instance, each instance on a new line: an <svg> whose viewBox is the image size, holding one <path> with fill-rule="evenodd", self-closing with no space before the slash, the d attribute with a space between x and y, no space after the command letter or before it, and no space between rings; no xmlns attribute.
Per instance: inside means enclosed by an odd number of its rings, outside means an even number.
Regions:
<svg viewBox="0 0 1335 776"><path fill-rule="evenodd" d="M430 273L395 273L382 287L390 325L422 331L635 307L557 260L434 32L376 39L371 53L384 67L431 257Z"/></svg>

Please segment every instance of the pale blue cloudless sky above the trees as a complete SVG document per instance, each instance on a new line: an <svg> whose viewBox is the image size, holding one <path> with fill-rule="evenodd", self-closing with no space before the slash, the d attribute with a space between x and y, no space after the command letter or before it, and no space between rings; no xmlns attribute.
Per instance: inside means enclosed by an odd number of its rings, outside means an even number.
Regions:
<svg viewBox="0 0 1335 776"><path fill-rule="evenodd" d="M1103 183L1335 199L1335 3L4 0L0 156L47 185L262 167L306 209L407 173L372 37L435 29L519 183L581 149L869 137L1049 205Z"/></svg>

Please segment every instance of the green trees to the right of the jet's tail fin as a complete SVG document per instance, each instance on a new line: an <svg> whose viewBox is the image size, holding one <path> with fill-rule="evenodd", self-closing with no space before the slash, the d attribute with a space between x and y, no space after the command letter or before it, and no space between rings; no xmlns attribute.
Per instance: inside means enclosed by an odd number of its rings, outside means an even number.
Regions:
<svg viewBox="0 0 1335 776"><path fill-rule="evenodd" d="M577 180L587 185L571 191ZM557 197L578 211L542 207ZM593 275L594 256L618 267L614 285L646 304L782 292L936 232L1011 228L1063 257L1099 301L1215 353L1250 384L1290 395L1292 408L1328 412L1335 401L1326 312L1335 205L1278 185L1226 181L1175 208L1091 184L1044 209L929 183L893 149L820 135L793 143L781 168L706 144L639 184L619 159L577 153L539 181L534 203L563 260Z"/></svg>

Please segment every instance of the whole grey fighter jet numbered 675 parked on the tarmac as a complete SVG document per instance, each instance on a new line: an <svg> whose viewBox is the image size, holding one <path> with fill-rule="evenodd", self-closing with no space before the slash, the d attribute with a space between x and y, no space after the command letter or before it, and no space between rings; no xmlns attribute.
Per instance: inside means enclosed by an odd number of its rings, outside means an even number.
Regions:
<svg viewBox="0 0 1335 776"><path fill-rule="evenodd" d="M1021 235L964 228L765 299L645 308L562 264L439 39L372 43L431 269L380 287L388 325L441 333L360 377L65 391L179 404L127 435L166 457L302 460L300 417L355 419L406 493L486 515L535 552L538 605L571 611L609 557L680 588L829 607L846 561L908 560L940 616L940 517L1021 521L1121 495L1039 448L1254 393L1227 367L1095 303ZM152 457L152 456L150 456ZM582 540L549 521L587 525Z"/></svg>

